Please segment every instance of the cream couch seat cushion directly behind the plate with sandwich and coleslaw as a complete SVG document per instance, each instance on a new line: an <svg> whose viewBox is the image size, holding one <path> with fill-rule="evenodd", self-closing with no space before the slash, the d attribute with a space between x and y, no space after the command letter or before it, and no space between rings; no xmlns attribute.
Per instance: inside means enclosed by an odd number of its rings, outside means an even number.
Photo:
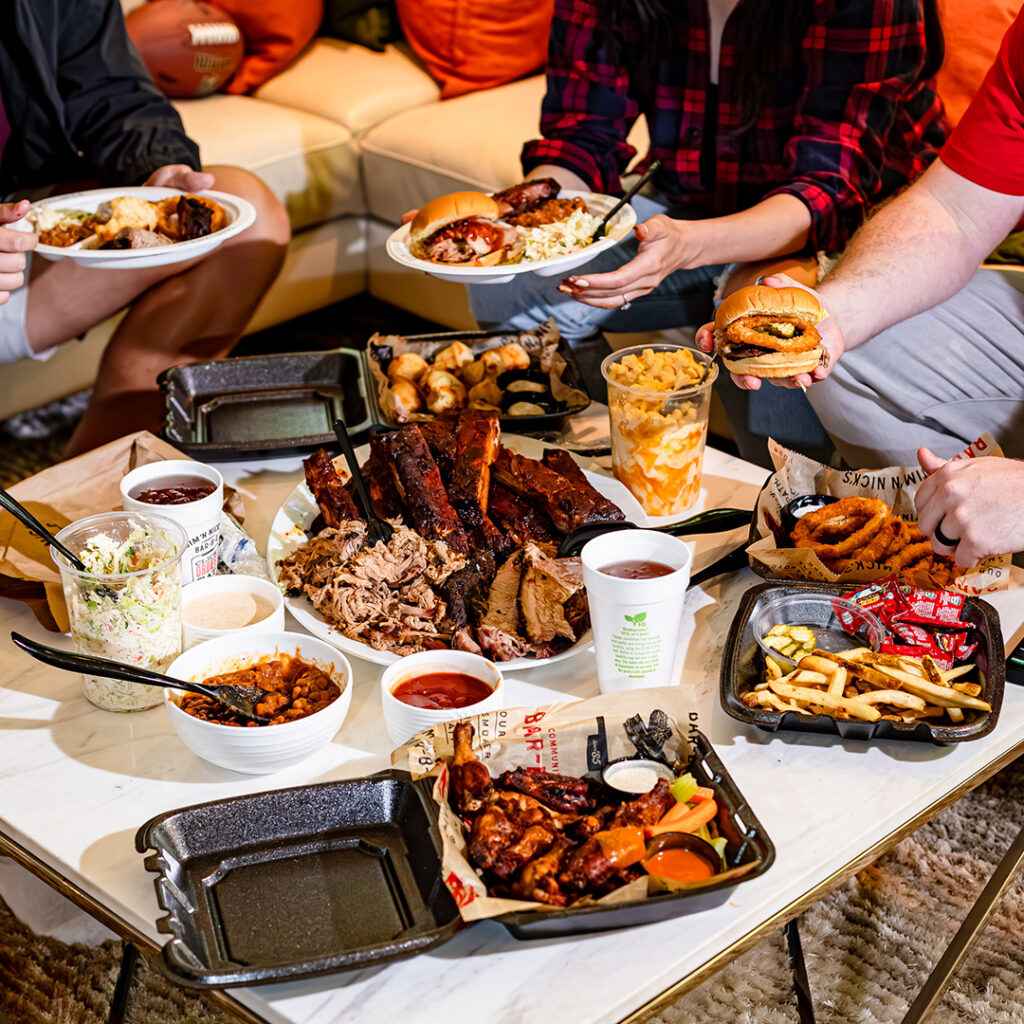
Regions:
<svg viewBox="0 0 1024 1024"><path fill-rule="evenodd" d="M501 188L522 177L519 152L537 138L544 76L406 111L359 140L370 213L398 223L407 210L459 188ZM630 133L640 154L647 130Z"/></svg>

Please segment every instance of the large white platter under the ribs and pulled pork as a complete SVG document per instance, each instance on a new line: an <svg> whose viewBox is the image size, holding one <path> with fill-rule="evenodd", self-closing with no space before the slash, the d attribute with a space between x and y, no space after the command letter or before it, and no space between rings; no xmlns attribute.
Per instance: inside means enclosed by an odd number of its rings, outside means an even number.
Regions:
<svg viewBox="0 0 1024 1024"><path fill-rule="evenodd" d="M520 455L530 459L540 459L545 449L557 447L557 445L546 444L532 437L519 437L515 434L504 434L502 443ZM360 464L369 457L370 446L362 444L355 450L355 457ZM625 513L626 518L638 525L647 525L647 517L637 500L617 480L608 476L600 470L588 468L585 464L584 472L590 482L605 498L613 501ZM279 559L286 558L296 548L306 541L305 527L316 518L319 510L316 502L309 493L305 483L298 484L295 489L285 499L285 503L278 509L278 514L270 524L270 536L266 542L266 561L270 569L270 575L276 580L279 578L276 563ZM373 662L376 665L392 665L398 660L399 655L388 650L376 650L361 640L353 640L339 633L323 615L312 606L312 603L305 597L285 597L285 605L295 618L314 637L332 643L335 647L343 650L352 657L360 657L365 662ZM571 647L558 654L547 658L517 657L511 662L502 662L501 667L506 672L521 672L523 669L532 669L545 665L554 665L556 662L563 662L568 657L582 654L585 650L590 650L592 642L591 633L588 630Z"/></svg>

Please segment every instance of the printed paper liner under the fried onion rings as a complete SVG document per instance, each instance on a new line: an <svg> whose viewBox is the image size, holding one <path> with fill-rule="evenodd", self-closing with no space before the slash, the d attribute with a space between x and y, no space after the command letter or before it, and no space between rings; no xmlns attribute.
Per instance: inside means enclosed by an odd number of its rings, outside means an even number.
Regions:
<svg viewBox="0 0 1024 1024"><path fill-rule="evenodd" d="M791 452L777 441L768 442L775 473L768 478L758 498L756 528L760 540L746 552L751 566L762 575L782 580L820 580L825 583L867 583L890 574L878 565L856 564L837 574L828 569L810 548L779 547L772 528L781 521L781 512L802 495L835 495L881 498L905 519L916 520L914 496L925 480L920 466L889 466L886 469L831 469L813 459ZM957 459L1001 457L1002 451L989 434L982 434L969 444ZM1010 583L1010 555L986 558L957 579L950 588L964 594L987 594Z"/></svg>

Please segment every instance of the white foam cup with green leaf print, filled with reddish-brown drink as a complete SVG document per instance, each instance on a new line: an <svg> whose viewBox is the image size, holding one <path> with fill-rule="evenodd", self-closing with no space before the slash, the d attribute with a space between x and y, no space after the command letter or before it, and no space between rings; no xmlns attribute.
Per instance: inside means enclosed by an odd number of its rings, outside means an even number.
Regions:
<svg viewBox="0 0 1024 1024"><path fill-rule="evenodd" d="M678 682L690 549L652 529L594 538L580 553L602 693Z"/></svg>

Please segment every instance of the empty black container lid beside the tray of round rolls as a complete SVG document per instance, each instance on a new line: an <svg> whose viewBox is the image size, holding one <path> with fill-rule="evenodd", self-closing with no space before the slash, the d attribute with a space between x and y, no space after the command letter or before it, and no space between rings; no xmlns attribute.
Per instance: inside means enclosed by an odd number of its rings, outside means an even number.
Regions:
<svg viewBox="0 0 1024 1024"><path fill-rule="evenodd" d="M162 436L197 459L265 459L337 444L345 421L356 443L372 424L373 382L361 352L289 352L165 370Z"/></svg>

